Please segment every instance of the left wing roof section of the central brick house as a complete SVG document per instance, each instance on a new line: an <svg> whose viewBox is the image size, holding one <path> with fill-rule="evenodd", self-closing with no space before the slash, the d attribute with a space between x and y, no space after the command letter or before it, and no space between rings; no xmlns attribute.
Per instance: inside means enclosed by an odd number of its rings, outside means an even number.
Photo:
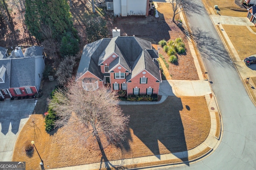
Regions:
<svg viewBox="0 0 256 170"><path fill-rule="evenodd" d="M104 53L111 39L104 38L84 46L83 53L78 66L76 80L84 73L90 71L98 78L104 78L101 74L100 66L98 66L98 57Z"/></svg>

